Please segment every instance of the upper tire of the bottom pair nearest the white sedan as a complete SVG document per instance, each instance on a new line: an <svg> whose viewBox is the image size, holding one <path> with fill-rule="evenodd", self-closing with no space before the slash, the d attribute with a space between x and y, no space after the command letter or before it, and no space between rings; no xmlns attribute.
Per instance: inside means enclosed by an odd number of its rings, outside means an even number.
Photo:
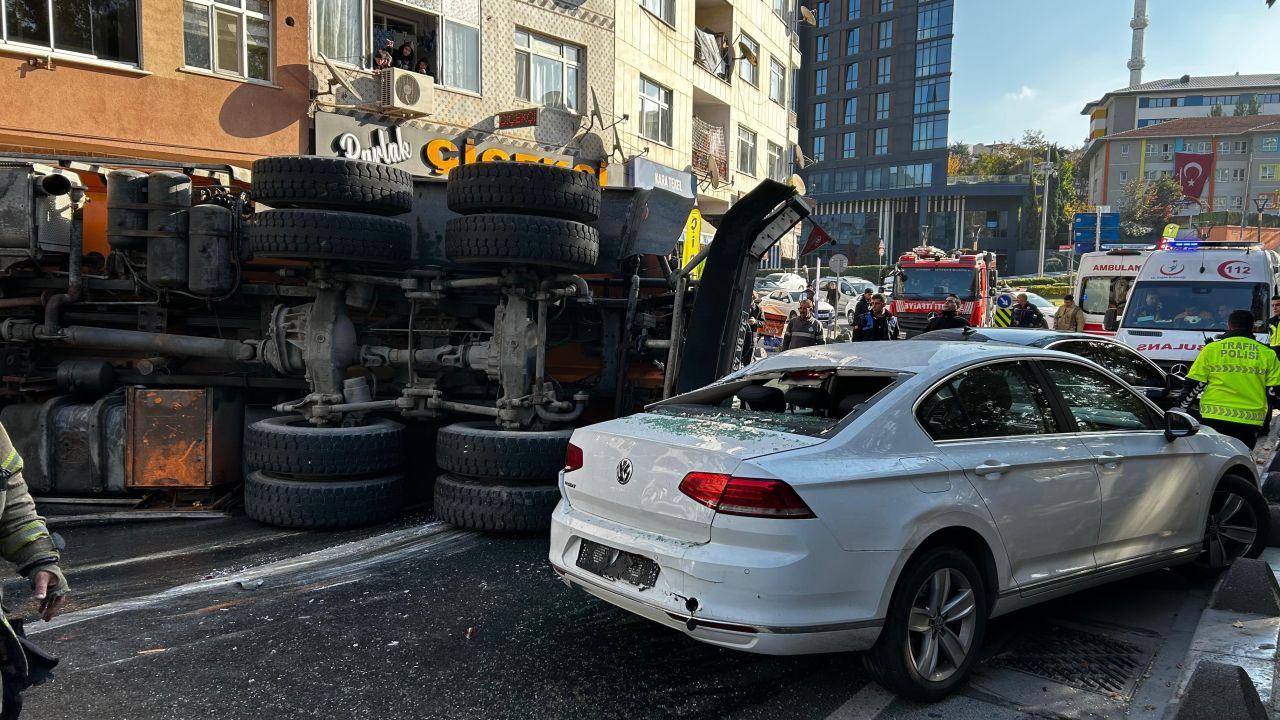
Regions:
<svg viewBox="0 0 1280 720"><path fill-rule="evenodd" d="M435 436L435 464L447 473L493 480L544 480L559 475L572 428L500 430L492 420L454 423Z"/></svg>

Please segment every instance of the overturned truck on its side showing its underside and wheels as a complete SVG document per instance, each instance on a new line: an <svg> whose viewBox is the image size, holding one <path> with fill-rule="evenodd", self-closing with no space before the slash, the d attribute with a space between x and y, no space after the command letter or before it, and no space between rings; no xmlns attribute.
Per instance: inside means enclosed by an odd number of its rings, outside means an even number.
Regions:
<svg viewBox="0 0 1280 720"><path fill-rule="evenodd" d="M691 200L660 190L532 163L214 170L0 159L0 421L37 493L545 527L572 428L727 372L759 256L808 214L760 183L694 282L667 264Z"/></svg>

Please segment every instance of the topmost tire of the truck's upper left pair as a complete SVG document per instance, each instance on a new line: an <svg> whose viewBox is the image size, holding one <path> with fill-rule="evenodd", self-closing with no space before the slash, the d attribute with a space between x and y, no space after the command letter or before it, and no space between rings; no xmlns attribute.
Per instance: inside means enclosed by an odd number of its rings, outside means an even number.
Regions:
<svg viewBox="0 0 1280 720"><path fill-rule="evenodd" d="M413 206L413 177L380 163L283 155L253 161L252 196L271 208L398 215Z"/></svg>

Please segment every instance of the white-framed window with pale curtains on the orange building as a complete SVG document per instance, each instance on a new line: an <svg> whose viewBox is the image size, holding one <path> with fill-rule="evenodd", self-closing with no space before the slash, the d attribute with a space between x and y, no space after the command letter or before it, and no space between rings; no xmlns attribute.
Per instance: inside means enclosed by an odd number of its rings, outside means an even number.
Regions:
<svg viewBox="0 0 1280 720"><path fill-rule="evenodd" d="M183 63L218 74L271 81L268 0L183 0Z"/></svg>

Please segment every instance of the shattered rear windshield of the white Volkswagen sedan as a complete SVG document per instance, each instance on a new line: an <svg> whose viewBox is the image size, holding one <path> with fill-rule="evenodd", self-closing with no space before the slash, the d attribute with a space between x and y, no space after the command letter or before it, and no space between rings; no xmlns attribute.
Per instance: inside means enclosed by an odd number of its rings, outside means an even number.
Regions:
<svg viewBox="0 0 1280 720"><path fill-rule="evenodd" d="M649 413L698 418L744 429L828 437L892 387L891 372L799 370L745 377L705 387Z"/></svg>

